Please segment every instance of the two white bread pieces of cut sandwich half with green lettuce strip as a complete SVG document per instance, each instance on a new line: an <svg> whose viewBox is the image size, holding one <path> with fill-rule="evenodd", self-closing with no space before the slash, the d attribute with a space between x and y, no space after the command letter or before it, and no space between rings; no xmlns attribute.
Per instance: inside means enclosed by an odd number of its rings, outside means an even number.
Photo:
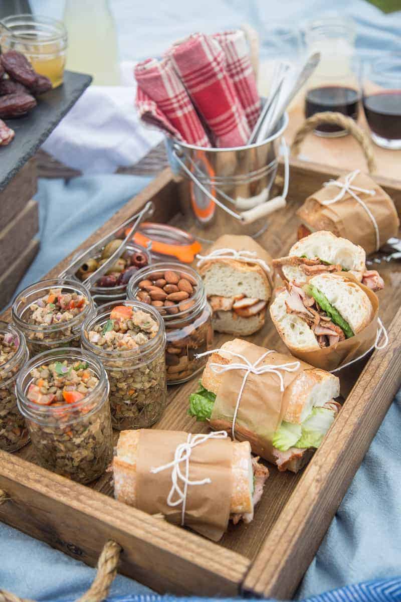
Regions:
<svg viewBox="0 0 401 602"><path fill-rule="evenodd" d="M338 313L347 321L354 334L361 332L372 320L373 307L362 288L346 276L321 274L309 280ZM270 315L278 334L290 351L310 352L320 346L312 327L299 315L287 311L287 290L279 293L270 307Z"/></svg>

